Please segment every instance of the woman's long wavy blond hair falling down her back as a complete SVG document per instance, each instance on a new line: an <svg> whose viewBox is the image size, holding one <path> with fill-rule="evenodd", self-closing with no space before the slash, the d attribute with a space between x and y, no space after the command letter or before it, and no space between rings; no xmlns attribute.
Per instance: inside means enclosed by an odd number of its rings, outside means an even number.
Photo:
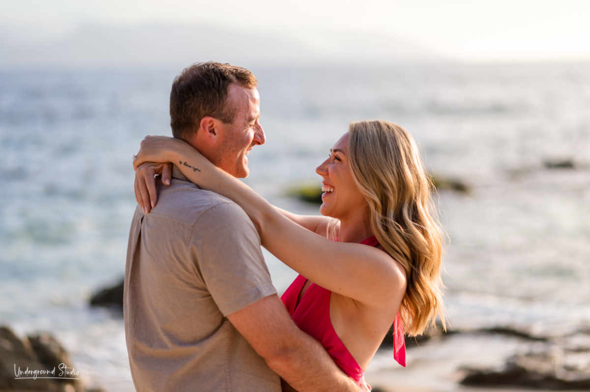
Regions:
<svg viewBox="0 0 590 392"><path fill-rule="evenodd" d="M414 138L391 122L359 121L348 128L350 170L365 196L379 244L404 266L407 288L399 313L409 336L424 333L440 317L444 234L434 206L434 186Z"/></svg>

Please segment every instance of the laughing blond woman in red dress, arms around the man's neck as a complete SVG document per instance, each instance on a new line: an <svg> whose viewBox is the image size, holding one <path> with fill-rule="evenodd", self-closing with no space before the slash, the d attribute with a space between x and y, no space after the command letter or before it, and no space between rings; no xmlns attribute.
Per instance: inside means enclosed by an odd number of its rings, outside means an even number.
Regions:
<svg viewBox="0 0 590 392"><path fill-rule="evenodd" d="M431 182L405 129L385 121L350 124L316 170L322 217L273 207L190 145L166 137L146 138L134 161L141 207L149 210L154 200L146 187L153 164L143 162L179 161L199 168L179 165L189 180L237 202L262 245L300 273L281 299L357 383L394 321L394 354L404 366L404 331L419 335L437 315L444 323Z"/></svg>

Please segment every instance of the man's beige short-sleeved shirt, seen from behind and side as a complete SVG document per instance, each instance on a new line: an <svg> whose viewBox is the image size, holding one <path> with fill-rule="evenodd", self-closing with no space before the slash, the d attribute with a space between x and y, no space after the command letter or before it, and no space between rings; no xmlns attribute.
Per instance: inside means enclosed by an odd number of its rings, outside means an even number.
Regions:
<svg viewBox="0 0 590 392"><path fill-rule="evenodd" d="M276 294L254 224L237 204L158 179L158 205L136 208L127 248L124 323L137 391L280 391L227 315Z"/></svg>

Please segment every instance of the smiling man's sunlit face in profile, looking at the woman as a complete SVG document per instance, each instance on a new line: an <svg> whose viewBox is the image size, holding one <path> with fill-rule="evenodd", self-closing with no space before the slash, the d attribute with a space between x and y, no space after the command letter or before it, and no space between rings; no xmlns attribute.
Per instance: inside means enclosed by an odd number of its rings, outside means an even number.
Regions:
<svg viewBox="0 0 590 392"><path fill-rule="evenodd" d="M266 136L260 118L260 95L256 88L249 89L237 84L228 88L227 105L235 108L234 121L224 124L217 167L237 178L250 174L248 153L255 145L264 144Z"/></svg>

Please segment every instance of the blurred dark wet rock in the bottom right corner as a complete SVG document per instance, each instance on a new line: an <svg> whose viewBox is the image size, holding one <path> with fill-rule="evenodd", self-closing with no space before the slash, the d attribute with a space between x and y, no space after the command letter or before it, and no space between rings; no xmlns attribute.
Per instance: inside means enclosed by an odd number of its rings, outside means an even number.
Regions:
<svg viewBox="0 0 590 392"><path fill-rule="evenodd" d="M461 381L466 386L590 390L590 336L578 333L535 343L500 369L466 370Z"/></svg>

